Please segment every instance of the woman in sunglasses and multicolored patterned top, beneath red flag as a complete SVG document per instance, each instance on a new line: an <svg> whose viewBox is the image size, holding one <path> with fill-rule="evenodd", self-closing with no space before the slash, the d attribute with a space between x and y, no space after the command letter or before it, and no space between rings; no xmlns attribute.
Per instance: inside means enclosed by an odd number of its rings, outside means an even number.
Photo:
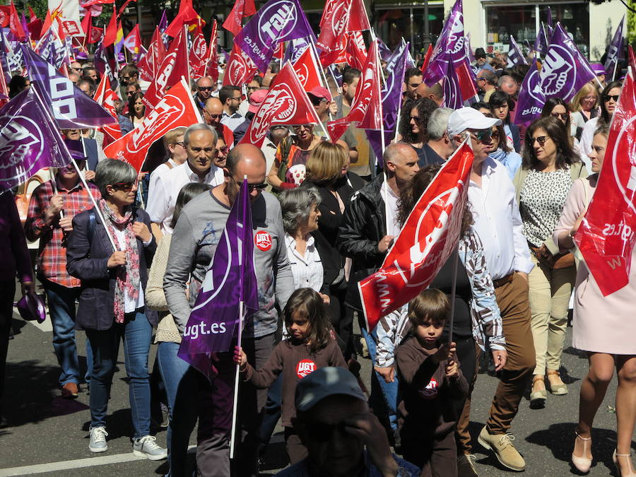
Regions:
<svg viewBox="0 0 636 477"><path fill-rule="evenodd" d="M314 124L292 126L293 135L288 136L276 148L276 159L269 170L267 180L273 189L293 189L305 180L305 164L322 139L314 134Z"/></svg>

